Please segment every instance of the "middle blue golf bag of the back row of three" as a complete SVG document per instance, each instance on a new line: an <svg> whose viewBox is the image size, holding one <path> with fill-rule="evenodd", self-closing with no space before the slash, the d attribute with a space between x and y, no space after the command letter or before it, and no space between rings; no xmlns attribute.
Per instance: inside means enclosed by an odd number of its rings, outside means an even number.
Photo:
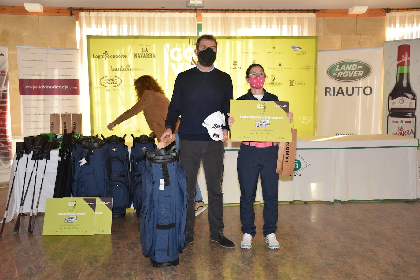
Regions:
<svg viewBox="0 0 420 280"><path fill-rule="evenodd" d="M123 137L112 135L107 138L102 136L111 157L111 183L114 194L113 217L124 217L126 209L131 207L130 157L125 137L126 135Z"/></svg>

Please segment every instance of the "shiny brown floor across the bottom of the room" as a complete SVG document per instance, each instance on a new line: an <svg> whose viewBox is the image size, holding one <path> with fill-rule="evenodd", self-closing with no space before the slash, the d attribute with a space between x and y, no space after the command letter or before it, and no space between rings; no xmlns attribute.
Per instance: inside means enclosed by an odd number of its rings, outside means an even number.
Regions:
<svg viewBox="0 0 420 280"><path fill-rule="evenodd" d="M7 188L0 189L3 217ZM195 243L179 265L154 268L142 254L135 212L114 218L110 236L42 236L14 221L0 238L1 279L420 279L420 201L281 204L277 239L262 236L256 205L252 249L240 249L239 206L226 206L225 233L235 249L208 240L207 210L196 219Z"/></svg>

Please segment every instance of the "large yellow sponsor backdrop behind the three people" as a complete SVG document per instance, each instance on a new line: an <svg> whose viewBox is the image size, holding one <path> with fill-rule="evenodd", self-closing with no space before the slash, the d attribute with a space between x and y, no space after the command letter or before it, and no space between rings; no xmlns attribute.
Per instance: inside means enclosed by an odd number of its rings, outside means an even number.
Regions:
<svg viewBox="0 0 420 280"><path fill-rule="evenodd" d="M87 36L92 135L148 135L142 113L114 131L107 125L136 103L134 80L139 76L153 76L171 99L178 73L196 66L196 39ZM248 66L259 63L267 75L264 88L289 102L299 135L314 135L316 37L217 37L217 41L215 67L232 77L234 98L249 88Z"/></svg>

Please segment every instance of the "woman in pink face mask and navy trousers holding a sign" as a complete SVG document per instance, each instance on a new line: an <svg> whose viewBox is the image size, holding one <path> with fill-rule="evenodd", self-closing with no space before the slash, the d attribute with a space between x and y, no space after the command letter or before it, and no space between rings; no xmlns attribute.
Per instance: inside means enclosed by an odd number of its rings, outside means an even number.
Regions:
<svg viewBox="0 0 420 280"><path fill-rule="evenodd" d="M265 72L259 64L252 64L247 69L245 79L251 86L248 92L238 99L240 100L263 100L278 101L278 97L267 92L262 86L265 82ZM230 116L230 114L228 114ZM286 116L293 120L293 114ZM229 128L235 119L228 118ZM241 242L241 249L251 249L252 238L255 236L255 214L254 202L257 192L258 176L261 177L262 198L264 199L264 226L262 227L265 236L265 243L270 249L278 249L276 239L277 211L278 211L278 173L277 166L278 145L277 142L251 142L243 141L239 149L236 167L238 170L239 185L241 188L240 197L240 219L241 230L244 238Z"/></svg>

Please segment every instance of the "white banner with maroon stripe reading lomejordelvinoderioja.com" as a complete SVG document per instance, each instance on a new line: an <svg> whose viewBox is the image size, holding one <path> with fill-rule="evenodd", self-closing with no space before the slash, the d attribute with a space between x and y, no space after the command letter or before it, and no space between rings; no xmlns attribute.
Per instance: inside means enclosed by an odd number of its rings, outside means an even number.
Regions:
<svg viewBox="0 0 420 280"><path fill-rule="evenodd" d="M81 113L79 49L17 46L16 52L22 137L49 133L51 113Z"/></svg>

